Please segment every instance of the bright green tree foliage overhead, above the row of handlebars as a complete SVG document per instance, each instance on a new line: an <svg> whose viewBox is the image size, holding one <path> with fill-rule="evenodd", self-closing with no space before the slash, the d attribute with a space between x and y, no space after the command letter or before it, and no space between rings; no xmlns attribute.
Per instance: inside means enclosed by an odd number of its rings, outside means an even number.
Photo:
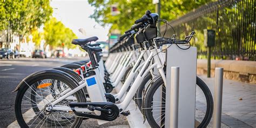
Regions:
<svg viewBox="0 0 256 128"><path fill-rule="evenodd" d="M210 0L161 0L160 18L170 21L179 16L186 14L188 11L198 8L198 6L207 3ZM105 26L112 24L111 30L118 29L121 32L129 29L134 21L145 14L146 10L154 12L155 5L152 0L89 0L89 4L95 6L95 12L91 15L96 22ZM116 4L120 14L116 16L111 15L111 5Z"/></svg>

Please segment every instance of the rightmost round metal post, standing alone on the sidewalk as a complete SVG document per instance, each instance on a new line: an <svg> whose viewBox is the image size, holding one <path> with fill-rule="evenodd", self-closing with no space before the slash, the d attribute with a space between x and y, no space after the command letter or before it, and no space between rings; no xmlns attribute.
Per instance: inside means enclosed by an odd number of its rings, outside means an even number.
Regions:
<svg viewBox="0 0 256 128"><path fill-rule="evenodd" d="M217 128L219 128L221 125L222 93L223 93L223 68L215 68L213 127L217 127Z"/></svg>

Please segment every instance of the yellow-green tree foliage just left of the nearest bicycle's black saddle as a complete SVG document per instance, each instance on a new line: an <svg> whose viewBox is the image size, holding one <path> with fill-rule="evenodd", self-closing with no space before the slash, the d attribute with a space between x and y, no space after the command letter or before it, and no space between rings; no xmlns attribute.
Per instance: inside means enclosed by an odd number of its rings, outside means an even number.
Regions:
<svg viewBox="0 0 256 128"><path fill-rule="evenodd" d="M77 38L75 33L65 25L57 21L56 18L51 18L50 21L46 22L44 25L43 32L45 44L49 44L51 48L56 47L67 47L75 48L75 45L71 44L72 39Z"/></svg>

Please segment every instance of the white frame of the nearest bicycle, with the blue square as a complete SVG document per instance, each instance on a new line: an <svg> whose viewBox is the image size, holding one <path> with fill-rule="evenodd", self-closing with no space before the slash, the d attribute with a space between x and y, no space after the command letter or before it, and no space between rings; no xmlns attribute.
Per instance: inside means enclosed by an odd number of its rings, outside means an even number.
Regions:
<svg viewBox="0 0 256 128"><path fill-rule="evenodd" d="M145 60L145 63L143 64L142 69L139 72L139 75L134 80L134 82L133 82L133 84L131 86L131 89L127 93L127 95L125 96L123 102L121 102L120 104L116 104L118 106L119 110L120 110L120 113L123 112L127 108L127 106L129 105L129 103L131 102L134 94L136 93L136 91L137 91L140 83L142 82L143 78L145 77L146 73L150 72L150 70L152 70L153 68L157 68L158 69L158 72L161 75L161 77L163 78L164 84L166 85L166 78L165 78L165 74L164 74L164 70L163 70L163 67L164 67L163 66L164 65L163 56L161 56L161 55L159 56L158 55L159 49L152 49L150 51L151 51L151 53L150 53L149 57ZM141 57L143 57L143 55ZM150 65L152 59L154 59L154 63L152 65ZM136 67L136 66L134 66L134 67ZM95 71L97 71L97 70L95 70ZM97 77L99 77L98 76L99 74L97 74L97 72L96 72L96 75L93 76L96 79L98 79ZM102 84L102 83L97 83L97 84ZM70 92L66 93L62 97L56 99L54 102L51 103L52 109L53 110L61 109L60 111L63 111L63 110L64 111L69 111L69 110L71 110L69 106L62 106L60 108L60 105L58 105L56 107L55 104L59 103L60 101L62 101L65 98L69 97L70 95L72 95L73 93L79 91L80 89L82 89L85 86L88 87L88 85L86 83L83 83L83 84L79 85L78 87L76 87L75 89L71 90ZM127 86L127 85L125 85L125 86ZM103 91L100 91L100 90L101 89L98 90L98 93L100 93L100 95L103 95L104 94ZM92 94L92 93L95 93L95 92L90 92L90 91L88 91L88 92L89 92L89 96L90 96L91 102L97 102L97 101L94 101L94 100L95 100L96 97L99 97L99 96L95 96L95 95ZM99 95L98 93L97 93L97 95ZM102 96L102 97L104 97L104 96ZM78 112L79 111L81 111L81 112L88 112L88 111L90 111L90 110L88 110L86 108L79 108L79 109L75 109L75 110L77 110ZM98 113L98 112L96 112L96 113Z"/></svg>

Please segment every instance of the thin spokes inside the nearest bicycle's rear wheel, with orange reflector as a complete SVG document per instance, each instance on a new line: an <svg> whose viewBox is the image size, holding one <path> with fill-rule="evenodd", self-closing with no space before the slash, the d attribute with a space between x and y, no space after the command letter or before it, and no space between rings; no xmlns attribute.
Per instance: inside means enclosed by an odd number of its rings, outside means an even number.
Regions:
<svg viewBox="0 0 256 128"><path fill-rule="evenodd" d="M56 110L45 111L46 105L59 97L55 92L58 91L58 94L60 94L66 89L70 89L69 85L57 79L42 79L30 84L24 80L24 83L28 87L23 92L20 110L22 111L23 119L29 127L48 127L48 125L49 127L71 127L75 123L77 116L74 113ZM42 86L42 88L38 87L47 83L52 84L51 86ZM64 99L56 105L66 106L73 100L79 101L76 93L71 95L70 99ZM34 112L35 114L29 114L30 112Z"/></svg>

